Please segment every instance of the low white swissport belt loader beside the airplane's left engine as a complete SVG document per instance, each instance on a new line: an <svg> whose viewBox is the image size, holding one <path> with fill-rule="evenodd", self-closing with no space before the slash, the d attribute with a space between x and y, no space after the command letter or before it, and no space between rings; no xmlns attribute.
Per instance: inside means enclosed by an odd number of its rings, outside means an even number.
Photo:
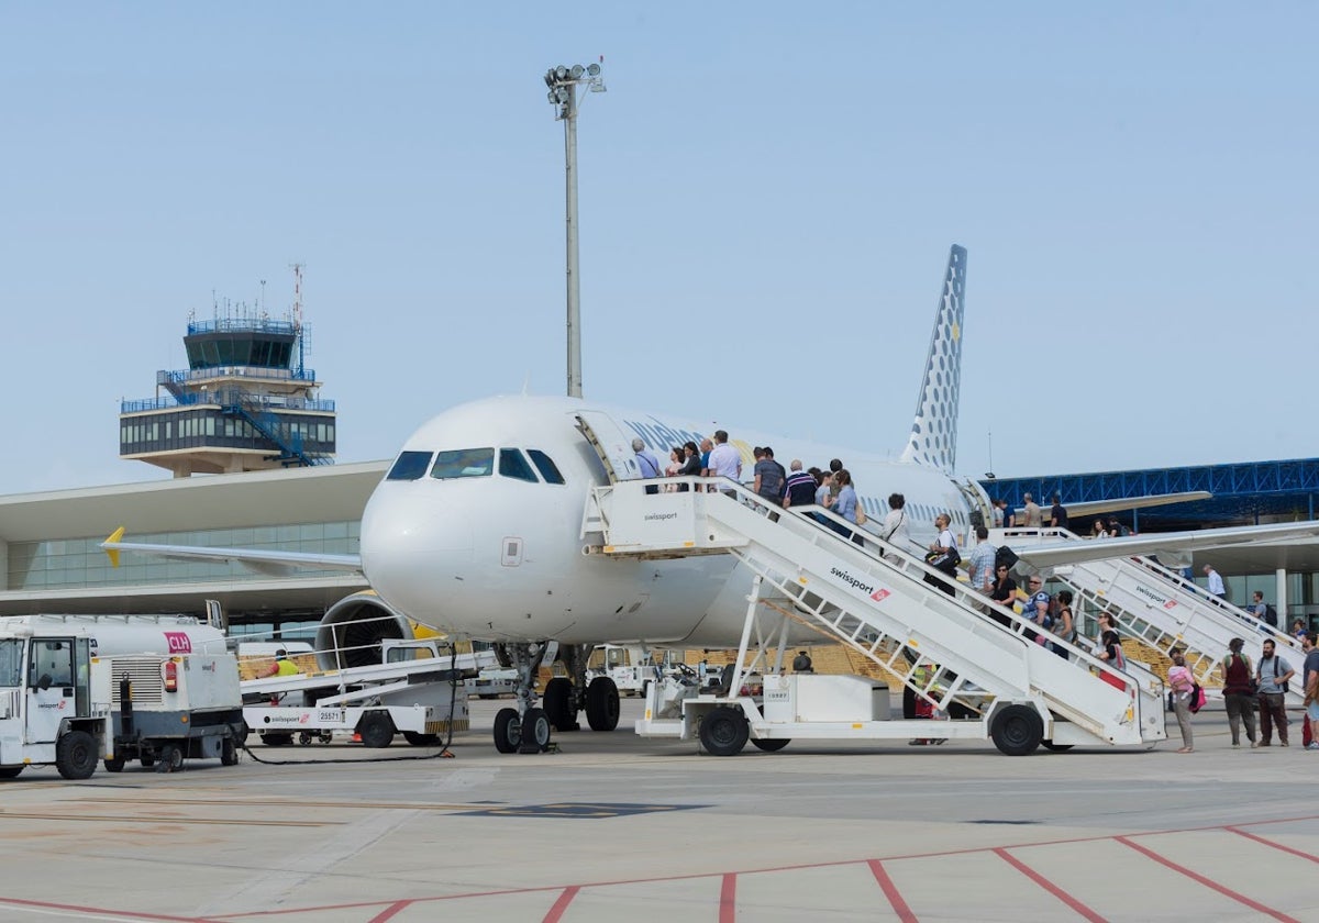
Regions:
<svg viewBox="0 0 1319 923"><path fill-rule="evenodd" d="M447 732L467 730L462 674L472 655L442 655L434 641L386 643L385 663L243 682L248 728L268 746L328 744L335 732L359 734L367 746L389 746L394 734L433 746Z"/></svg>

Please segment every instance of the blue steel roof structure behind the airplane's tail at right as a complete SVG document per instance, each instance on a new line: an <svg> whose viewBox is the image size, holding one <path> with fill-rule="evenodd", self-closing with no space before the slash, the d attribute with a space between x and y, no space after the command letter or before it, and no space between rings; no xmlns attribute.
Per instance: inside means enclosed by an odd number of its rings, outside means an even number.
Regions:
<svg viewBox="0 0 1319 923"><path fill-rule="evenodd" d="M1054 493L1062 497L1063 506L1113 497L1190 491L1212 493L1211 500L1117 514L1119 521L1140 531L1175 531L1208 525L1254 525L1278 518L1314 520L1319 497L1319 459L995 477L981 480L980 487L1013 508L1022 505L1022 496L1028 492L1045 508ZM1074 531L1084 533L1088 525L1074 523Z"/></svg>

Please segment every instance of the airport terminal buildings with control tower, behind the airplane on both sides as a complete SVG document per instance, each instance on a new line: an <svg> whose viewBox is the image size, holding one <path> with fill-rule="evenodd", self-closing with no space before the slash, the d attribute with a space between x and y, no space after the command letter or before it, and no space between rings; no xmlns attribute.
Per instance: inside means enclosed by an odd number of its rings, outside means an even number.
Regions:
<svg viewBox="0 0 1319 923"><path fill-rule="evenodd" d="M301 305L291 320L191 322L189 368L158 372L152 398L124 401L120 455L173 475L153 483L0 496L0 614L168 612L202 616L219 600L235 634L311 640L327 609L369 591L342 571L255 572L231 562L125 555L112 567L99 547L125 541L207 547L356 554L367 498L389 460L330 464L335 406L306 367ZM193 475L206 475L194 477ZM1169 531L1315 518L1319 459L985 479L991 497L1046 506L1112 497L1207 491L1212 500L1120 516L1137 531ZM1089 522L1072 522L1086 534ZM1319 624L1319 543L1196 552L1239 605L1256 589L1279 614ZM352 600L348 600L352 604ZM1290 624L1290 622L1289 622Z"/></svg>

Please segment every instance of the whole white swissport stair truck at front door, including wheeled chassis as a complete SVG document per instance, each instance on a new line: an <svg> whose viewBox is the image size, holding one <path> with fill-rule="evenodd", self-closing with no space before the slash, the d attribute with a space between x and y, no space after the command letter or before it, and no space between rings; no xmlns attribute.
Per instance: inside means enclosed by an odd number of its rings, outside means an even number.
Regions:
<svg viewBox="0 0 1319 923"><path fill-rule="evenodd" d="M783 510L727 480L683 480L696 487L660 494L630 480L596 487L583 513L588 554L729 554L754 575L724 686L710 694L678 678L653 684L638 734L695 737L715 756L748 742L778 750L791 738L992 740L1009 756L1165 740L1163 684L1142 665L1119 670L1051 638L1067 654L1058 657L1035 643L1021 616L822 508ZM849 541L853 533L860 543ZM913 705L923 701L950 720L890 720L882 680L785 674L785 647L801 628L869 659L902 683ZM904 717L911 717L906 707Z"/></svg>

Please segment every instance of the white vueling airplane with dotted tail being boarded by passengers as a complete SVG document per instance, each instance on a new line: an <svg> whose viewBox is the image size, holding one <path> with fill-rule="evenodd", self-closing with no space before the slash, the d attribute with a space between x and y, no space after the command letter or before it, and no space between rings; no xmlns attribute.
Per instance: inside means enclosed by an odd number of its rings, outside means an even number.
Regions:
<svg viewBox="0 0 1319 923"><path fill-rule="evenodd" d="M783 439L729 427L729 442L751 480L752 446L770 446L781 462L824 465L843 459L860 502L876 523L886 497L906 498L914 549L936 538L935 516L951 518L963 547L975 525L992 522L991 498L954 472L967 251L948 256L917 398L915 418L897 462L873 454ZM495 397L441 413L402 446L372 493L361 518L360 555L138 545L123 530L103 543L112 558L138 551L170 558L237 560L261 571L288 567L361 572L372 591L331 607L318 649L365 649L379 638L406 637L408 620L456 638L485 641L518 670L517 708L496 719L495 742L520 749L520 736L542 744L549 727L578 728L586 711L595 730L612 730L619 694L612 680L586 682L587 658L599 643L669 647L736 647L752 572L729 555L665 560L608 559L586 554L583 510L594 487L640 477L633 438L661 458L707 427L674 417L571 397ZM785 465L786 467L786 465ZM1204 494L1115 498L1076 505L1074 514L1130 509ZM1149 547L1203 547L1312 535L1314 523L1203 530L1194 534L1047 543L1021 559L1053 566L1076 555L1125 556ZM1141 542L1145 542L1144 545ZM905 549L914 551L914 549ZM1053 555L1050 558L1050 555ZM384 621L381 622L381 616ZM777 628L777 625L776 625ZM787 642L815 638L790 624ZM567 676L549 680L537 707L536 672L559 657ZM525 749L525 748L524 748Z"/></svg>

